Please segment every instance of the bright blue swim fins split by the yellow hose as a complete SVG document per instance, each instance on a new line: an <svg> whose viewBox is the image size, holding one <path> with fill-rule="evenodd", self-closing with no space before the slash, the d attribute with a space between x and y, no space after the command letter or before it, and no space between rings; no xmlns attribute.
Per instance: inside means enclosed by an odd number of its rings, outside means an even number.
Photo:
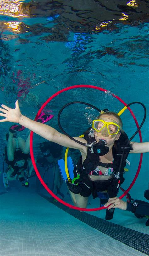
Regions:
<svg viewBox="0 0 149 256"><path fill-rule="evenodd" d="M59 169L60 169L62 178L64 181L66 181L67 175L66 175L66 171L65 171L65 161L63 159L58 160L58 165L59 165ZM74 178L74 173L73 173L74 164L73 164L73 161L70 156L67 158L67 167L68 167L68 171L69 171L69 176L71 179L73 179Z"/></svg>

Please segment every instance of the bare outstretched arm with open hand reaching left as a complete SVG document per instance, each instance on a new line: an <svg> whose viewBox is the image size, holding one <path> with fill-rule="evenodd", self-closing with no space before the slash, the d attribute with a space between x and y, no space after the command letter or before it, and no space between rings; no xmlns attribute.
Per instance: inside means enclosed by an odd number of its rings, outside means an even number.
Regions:
<svg viewBox="0 0 149 256"><path fill-rule="evenodd" d="M31 131L35 132L36 134L40 135L41 137L45 138L46 140L53 141L64 147L79 149L82 153L86 153L87 151L85 146L78 144L77 142L71 140L64 134L59 133L51 126L33 121L28 117L23 116L19 109L18 100L15 103L15 109L11 109L5 105L2 105L0 111L2 112L0 113L0 116L5 117L5 119L1 119L0 122L9 121L19 123L25 126L26 128L30 129ZM86 143L86 140L83 138L77 137L77 140Z"/></svg>

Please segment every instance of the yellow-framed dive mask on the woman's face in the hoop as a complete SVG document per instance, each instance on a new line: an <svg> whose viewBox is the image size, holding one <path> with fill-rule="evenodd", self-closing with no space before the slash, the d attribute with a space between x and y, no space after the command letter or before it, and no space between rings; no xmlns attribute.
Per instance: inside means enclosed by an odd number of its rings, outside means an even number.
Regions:
<svg viewBox="0 0 149 256"><path fill-rule="evenodd" d="M120 130L120 126L118 124L114 122L105 122L102 119L93 120L92 128L97 132L105 133L105 135L116 135Z"/></svg>

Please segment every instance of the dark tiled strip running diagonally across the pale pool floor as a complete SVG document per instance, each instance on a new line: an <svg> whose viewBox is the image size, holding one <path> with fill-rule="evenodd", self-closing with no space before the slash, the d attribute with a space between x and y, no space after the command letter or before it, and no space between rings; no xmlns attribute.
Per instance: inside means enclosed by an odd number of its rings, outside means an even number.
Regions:
<svg viewBox="0 0 149 256"><path fill-rule="evenodd" d="M48 200L50 203L53 203L58 208L86 223L90 227L97 229L98 231L114 238L115 240L118 240L119 242L129 247L132 247L135 250L140 251L141 253L149 255L149 235L132 230L130 228L122 227L106 220L102 220L86 212L70 209L62 203L54 203L53 197L48 197L43 194L39 195Z"/></svg>

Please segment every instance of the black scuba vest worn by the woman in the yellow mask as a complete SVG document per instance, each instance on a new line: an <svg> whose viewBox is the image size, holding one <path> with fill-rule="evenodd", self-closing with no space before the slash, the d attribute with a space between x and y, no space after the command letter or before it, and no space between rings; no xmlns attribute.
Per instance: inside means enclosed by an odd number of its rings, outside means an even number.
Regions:
<svg viewBox="0 0 149 256"><path fill-rule="evenodd" d="M91 127L88 128L88 130L83 133L84 138L87 141L87 143L96 143L94 136L91 136L90 130L91 130ZM121 131L121 135L119 139L115 141L115 144L112 148L113 159L114 159L113 163L100 162L99 156L95 154L90 147L88 147L87 156L83 164L82 164L82 157L80 157L75 167L75 170L79 175L77 178L74 178L74 181L72 181L72 183L74 185L77 185L78 187L80 182L83 182L83 181L86 181L86 179L89 179L88 174L91 171L95 170L98 165L106 168L111 167L114 170L114 178L113 178L113 182L108 187L107 192L109 197L116 197L119 190L119 186L124 182L124 178L123 178L124 167L126 165L127 156L131 149L132 149L132 146L130 145L128 136L124 131ZM78 188L77 187L76 187L76 193L79 193L79 187ZM72 192L75 193L75 190L73 190Z"/></svg>

